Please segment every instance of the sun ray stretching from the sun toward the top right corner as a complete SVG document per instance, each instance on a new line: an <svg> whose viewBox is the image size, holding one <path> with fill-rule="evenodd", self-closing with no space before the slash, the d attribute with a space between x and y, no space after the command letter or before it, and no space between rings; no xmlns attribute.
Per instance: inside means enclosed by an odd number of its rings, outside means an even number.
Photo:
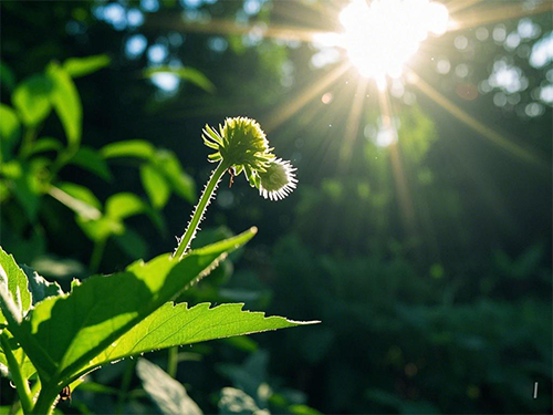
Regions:
<svg viewBox="0 0 553 415"><path fill-rule="evenodd" d="M509 6L480 7L451 15L448 32L466 30L477 25L495 23L499 21L526 18L534 14L546 13L553 10L553 1L545 1L534 8L523 8L522 2Z"/></svg>

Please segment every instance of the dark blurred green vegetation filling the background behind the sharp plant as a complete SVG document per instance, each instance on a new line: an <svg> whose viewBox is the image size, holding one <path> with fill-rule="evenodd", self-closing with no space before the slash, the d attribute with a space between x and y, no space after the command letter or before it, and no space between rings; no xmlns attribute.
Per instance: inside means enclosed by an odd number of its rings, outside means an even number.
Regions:
<svg viewBox="0 0 553 415"><path fill-rule="evenodd" d="M406 219L389 148L374 143L376 91L355 139L344 142L354 71L276 124L279 108L292 107L340 62L314 64L321 51L309 43L197 33L181 20L330 30L336 22L321 10L336 14L340 3L3 0L0 246L64 288L173 250L212 167L201 128L250 116L298 167L299 188L274 204L242 179L232 189L222 184L195 243L252 225L259 234L181 300L240 301L323 323L180 349L176 374L167 353L148 359L186 385L206 414L230 414L229 402L242 414L546 414L553 111L540 91L553 84L553 61L536 65L530 56L551 39L552 13L533 17L540 33L515 48L492 33L517 32L518 19L486 25L482 41L478 27L446 34L434 41L436 53L414 60L438 92L535 158L505 152L405 83L392 104L411 200ZM84 56L96 58L71 61ZM440 74L436 61L445 59L451 71ZM494 62L519 70L526 87L482 86L501 66ZM461 64L465 76L455 70ZM167 66L178 69L173 89L153 82ZM480 87L477 98L458 93L467 85ZM115 144L122 141L135 142ZM60 200L51 186L92 214ZM135 364L93 373L61 411L160 411L142 383L155 369ZM13 397L2 377L0 403Z"/></svg>

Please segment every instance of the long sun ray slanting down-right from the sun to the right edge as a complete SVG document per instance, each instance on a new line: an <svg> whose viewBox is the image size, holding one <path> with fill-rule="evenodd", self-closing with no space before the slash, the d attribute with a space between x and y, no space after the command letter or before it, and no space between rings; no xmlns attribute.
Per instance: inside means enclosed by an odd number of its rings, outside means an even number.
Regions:
<svg viewBox="0 0 553 415"><path fill-rule="evenodd" d="M480 121L476 120L472 115L461 110L453 102L446 98L432 86L422 81L422 79L418 76L415 72L413 72L413 70L408 72L407 80L409 81L409 83L414 84L420 92L422 92L426 96L428 96L430 100L432 100L442 108L445 108L447 112L449 112L451 115L453 115L457 120L463 122L470 128L480 133L483 137L497 144L503 151L511 153L512 155L519 157L520 159L525 160L526 163L540 166L546 169L549 173L553 172L551 164L543 160L541 157L539 157L530 149L523 148L520 145L512 143L508 138L503 137L501 134L497 133L494 129L488 127Z"/></svg>

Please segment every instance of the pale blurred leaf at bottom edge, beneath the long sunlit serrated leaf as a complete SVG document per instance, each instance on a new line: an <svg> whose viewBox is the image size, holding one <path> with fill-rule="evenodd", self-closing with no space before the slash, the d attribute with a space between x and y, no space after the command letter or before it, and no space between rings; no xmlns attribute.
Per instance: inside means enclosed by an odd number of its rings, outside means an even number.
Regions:
<svg viewBox="0 0 553 415"><path fill-rule="evenodd" d="M136 374L144 390L164 415L201 415L199 406L186 393L185 386L175 381L158 365L140 359Z"/></svg>

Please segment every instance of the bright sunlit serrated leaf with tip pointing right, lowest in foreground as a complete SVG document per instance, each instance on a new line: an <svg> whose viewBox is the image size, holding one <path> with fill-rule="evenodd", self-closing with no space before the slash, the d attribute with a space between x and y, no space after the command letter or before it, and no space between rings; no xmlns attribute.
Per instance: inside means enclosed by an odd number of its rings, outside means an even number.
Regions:
<svg viewBox="0 0 553 415"><path fill-rule="evenodd" d="M104 350L94 366L157 349L314 323L243 311L242 303L210 305L164 304Z"/></svg>

